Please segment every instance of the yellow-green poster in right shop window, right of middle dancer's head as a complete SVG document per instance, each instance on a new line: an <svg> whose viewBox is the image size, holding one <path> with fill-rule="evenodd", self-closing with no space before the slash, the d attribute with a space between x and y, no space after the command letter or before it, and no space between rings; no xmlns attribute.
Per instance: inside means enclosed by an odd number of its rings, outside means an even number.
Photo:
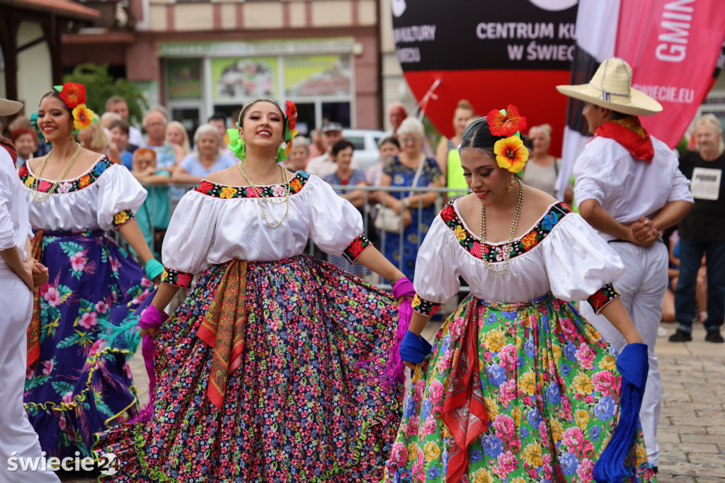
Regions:
<svg viewBox="0 0 725 483"><path fill-rule="evenodd" d="M291 99L349 95L351 78L348 55L305 55L284 59L284 91Z"/></svg>

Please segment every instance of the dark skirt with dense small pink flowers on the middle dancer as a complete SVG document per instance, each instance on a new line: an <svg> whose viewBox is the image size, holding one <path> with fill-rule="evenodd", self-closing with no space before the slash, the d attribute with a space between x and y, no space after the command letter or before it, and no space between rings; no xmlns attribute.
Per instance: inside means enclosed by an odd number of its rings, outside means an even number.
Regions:
<svg viewBox="0 0 725 483"><path fill-rule="evenodd" d="M382 479L404 392L379 377L395 300L307 255L249 262L241 365L218 410L212 348L197 331L228 265L207 268L159 331L152 421L99 434L96 453L117 457L112 481Z"/></svg>

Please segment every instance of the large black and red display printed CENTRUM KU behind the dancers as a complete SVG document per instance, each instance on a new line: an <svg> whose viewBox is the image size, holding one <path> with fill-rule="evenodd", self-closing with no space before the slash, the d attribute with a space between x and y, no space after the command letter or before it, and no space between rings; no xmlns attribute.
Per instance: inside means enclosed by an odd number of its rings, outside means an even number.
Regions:
<svg viewBox="0 0 725 483"><path fill-rule="evenodd" d="M554 126L561 146L576 36L576 0L392 0L393 38L405 79L418 100L437 83L426 115L444 136L454 134L460 99L476 113L508 104L528 124ZM558 131L558 133L556 132Z"/></svg>

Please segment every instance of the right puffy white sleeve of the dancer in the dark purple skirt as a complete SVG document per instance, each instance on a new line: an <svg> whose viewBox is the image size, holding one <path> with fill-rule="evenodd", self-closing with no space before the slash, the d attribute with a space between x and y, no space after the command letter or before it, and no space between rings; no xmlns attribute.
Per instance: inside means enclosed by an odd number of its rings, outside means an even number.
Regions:
<svg viewBox="0 0 725 483"><path fill-rule="evenodd" d="M146 200L146 189L129 170L114 164L96 181L98 183L98 224L103 230L118 228L133 220Z"/></svg>

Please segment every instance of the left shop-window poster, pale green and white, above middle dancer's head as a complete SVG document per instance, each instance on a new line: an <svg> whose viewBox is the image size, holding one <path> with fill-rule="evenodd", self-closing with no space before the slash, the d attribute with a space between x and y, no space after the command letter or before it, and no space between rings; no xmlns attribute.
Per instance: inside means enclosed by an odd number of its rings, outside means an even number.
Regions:
<svg viewBox="0 0 725 483"><path fill-rule="evenodd" d="M249 99L276 94L277 57L212 59L214 99Z"/></svg>

